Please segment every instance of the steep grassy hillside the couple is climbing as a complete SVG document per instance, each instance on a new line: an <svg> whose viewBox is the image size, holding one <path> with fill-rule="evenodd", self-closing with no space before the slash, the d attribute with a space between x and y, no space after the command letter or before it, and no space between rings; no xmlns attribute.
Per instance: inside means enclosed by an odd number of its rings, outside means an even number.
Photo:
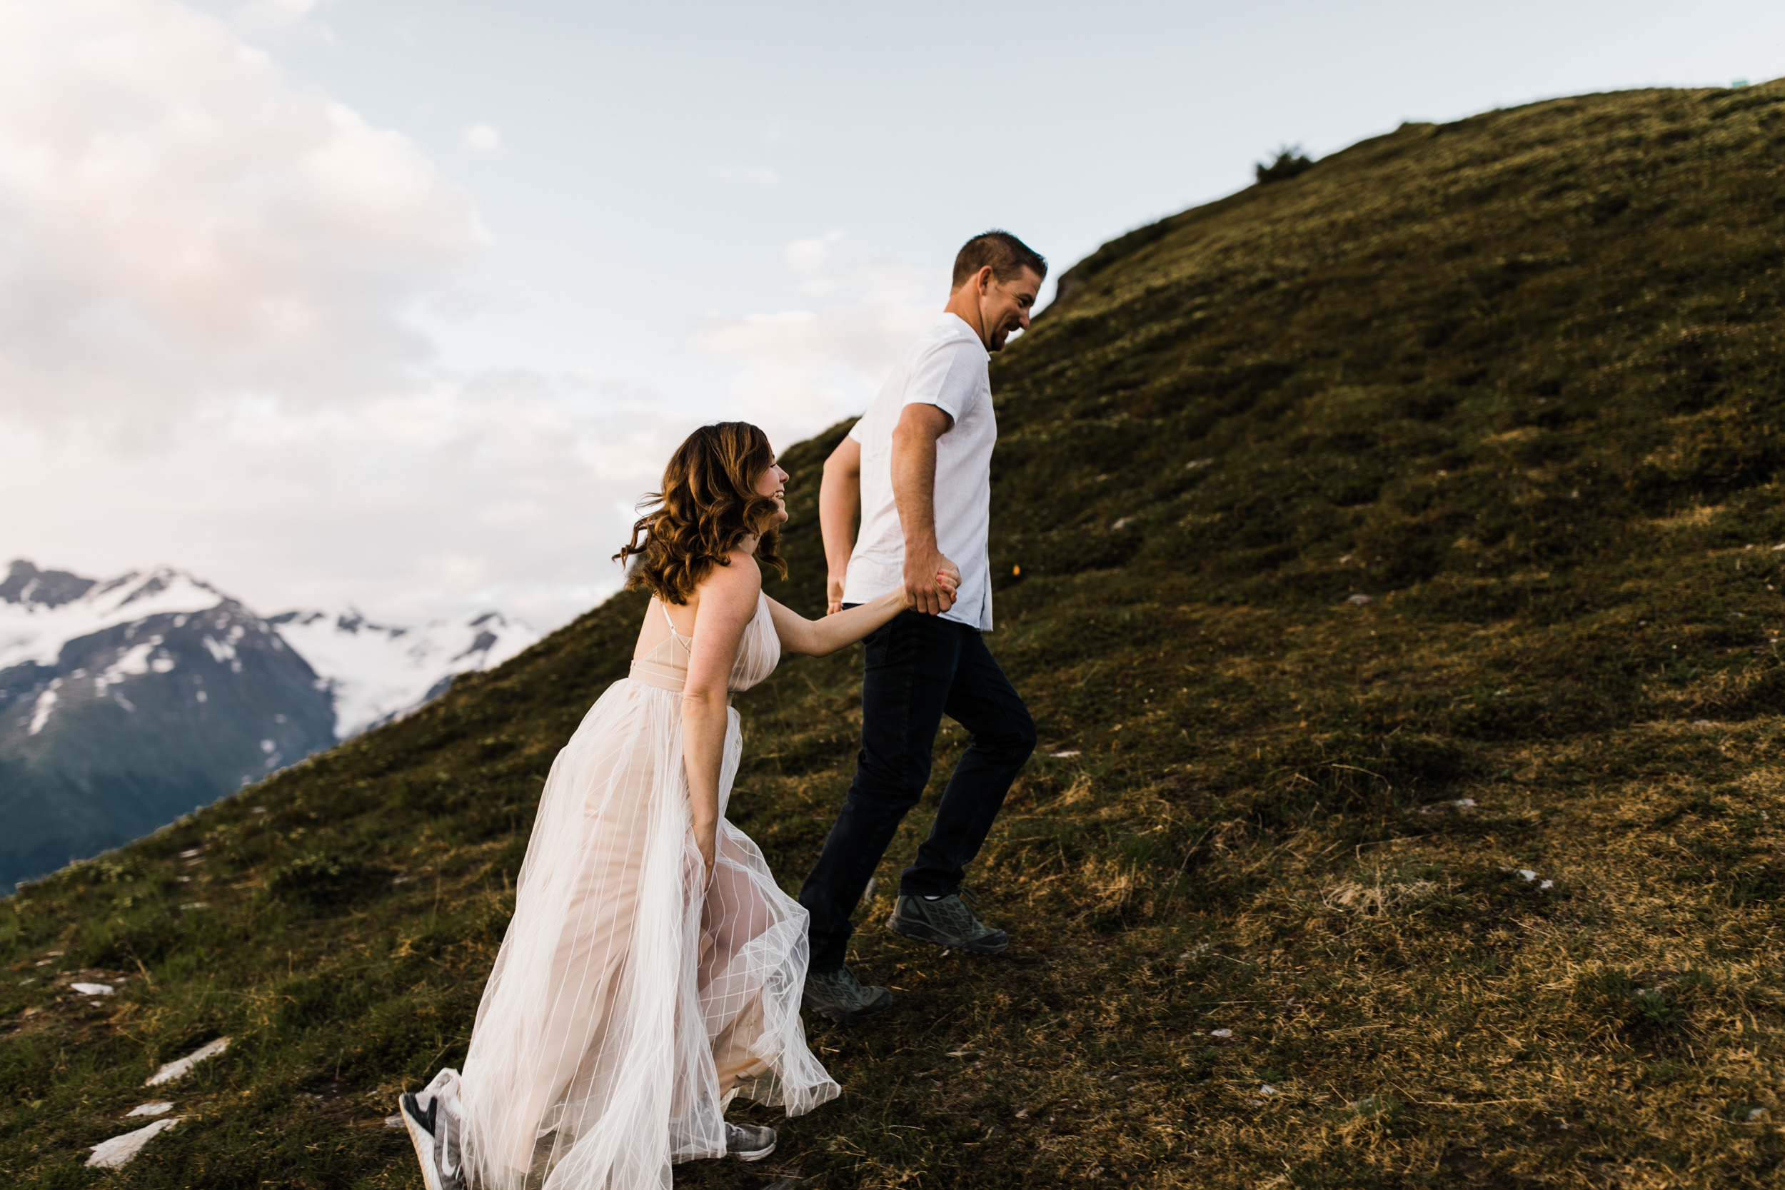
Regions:
<svg viewBox="0 0 1785 1190"><path fill-rule="evenodd" d="M898 1006L810 1026L843 1099L678 1185L1776 1185L1781 264L1769 84L1407 125L1073 269L992 373L1012 953L871 924L914 819L853 956ZM809 610L839 434L784 455ZM419 1185L382 1117L462 1058L639 612L7 901L0 1179ZM741 699L789 888L855 664ZM178 1128L79 1165L218 1035Z"/></svg>

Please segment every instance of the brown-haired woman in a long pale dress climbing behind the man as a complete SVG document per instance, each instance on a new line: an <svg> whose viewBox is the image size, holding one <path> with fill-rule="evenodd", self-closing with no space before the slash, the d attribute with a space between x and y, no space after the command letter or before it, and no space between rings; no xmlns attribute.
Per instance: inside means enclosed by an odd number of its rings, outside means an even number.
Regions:
<svg viewBox="0 0 1785 1190"><path fill-rule="evenodd" d="M775 1129L725 1122L735 1095L800 1115L837 1094L800 1024L805 910L725 821L728 703L905 599L809 621L762 594L760 564L787 569L785 482L762 430L702 426L614 555L652 592L632 674L546 778L464 1078L402 1101L428 1190L668 1188L671 1161L773 1151Z"/></svg>

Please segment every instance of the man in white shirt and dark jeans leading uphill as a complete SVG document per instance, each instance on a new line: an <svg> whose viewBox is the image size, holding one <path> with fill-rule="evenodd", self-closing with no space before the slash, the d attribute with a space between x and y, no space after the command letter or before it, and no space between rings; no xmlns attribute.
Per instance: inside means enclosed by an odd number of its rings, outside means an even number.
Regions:
<svg viewBox="0 0 1785 1190"><path fill-rule="evenodd" d="M905 351L873 405L825 462L819 526L830 610L905 589L910 610L862 644L862 746L855 780L800 890L810 913L805 1004L855 1022L892 1004L844 965L850 910L930 780L942 715L973 744L948 778L930 837L900 878L887 930L975 954L1009 944L962 899L1005 792L1035 748L1035 724L985 648L992 626L991 460L998 442L987 366L1028 326L1048 262L1009 232L975 236L955 257L948 305ZM857 501L860 539L850 530ZM955 562L960 585L935 576Z"/></svg>

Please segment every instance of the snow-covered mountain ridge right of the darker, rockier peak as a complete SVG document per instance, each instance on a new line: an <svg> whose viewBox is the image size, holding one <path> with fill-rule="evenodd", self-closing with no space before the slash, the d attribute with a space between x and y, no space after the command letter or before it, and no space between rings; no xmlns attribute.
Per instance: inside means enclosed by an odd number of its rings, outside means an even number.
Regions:
<svg viewBox="0 0 1785 1190"><path fill-rule="evenodd" d="M378 624L346 608L280 612L271 623L327 682L337 739L405 715L444 694L455 676L493 669L539 639L532 626L502 612Z"/></svg>

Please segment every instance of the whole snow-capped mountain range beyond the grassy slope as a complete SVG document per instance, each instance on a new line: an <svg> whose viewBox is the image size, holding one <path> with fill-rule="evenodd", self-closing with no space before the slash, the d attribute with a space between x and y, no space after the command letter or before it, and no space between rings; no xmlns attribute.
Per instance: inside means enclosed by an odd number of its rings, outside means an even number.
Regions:
<svg viewBox="0 0 1785 1190"><path fill-rule="evenodd" d="M486 612L257 616L173 567L0 578L0 890L145 835L519 653Z"/></svg>

